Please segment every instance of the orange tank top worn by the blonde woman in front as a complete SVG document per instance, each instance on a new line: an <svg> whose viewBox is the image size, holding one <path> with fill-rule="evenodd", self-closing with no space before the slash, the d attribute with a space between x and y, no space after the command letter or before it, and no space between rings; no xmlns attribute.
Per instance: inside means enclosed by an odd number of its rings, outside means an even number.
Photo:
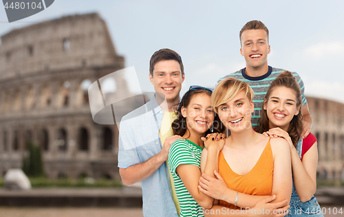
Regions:
<svg viewBox="0 0 344 217"><path fill-rule="evenodd" d="M239 175L233 172L226 159L224 159L224 153L222 151L219 153L219 174L221 174L231 190L250 195L271 195L273 171L274 159L270 139L257 163L246 175ZM235 207L235 205L226 201L219 201L219 205L229 207L230 209L240 209L240 207Z"/></svg>

